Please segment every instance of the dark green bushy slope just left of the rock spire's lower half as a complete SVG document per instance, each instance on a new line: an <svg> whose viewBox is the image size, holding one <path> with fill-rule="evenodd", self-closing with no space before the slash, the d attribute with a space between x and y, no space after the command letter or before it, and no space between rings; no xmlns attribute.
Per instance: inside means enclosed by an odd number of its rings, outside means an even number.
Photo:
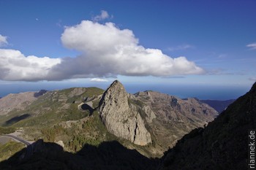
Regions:
<svg viewBox="0 0 256 170"><path fill-rule="evenodd" d="M84 144L97 146L101 142L110 139L98 112L94 112L93 115L81 120L67 121L53 125L50 128L42 128L41 133L45 142L61 140L64 142L65 149L71 152L77 152Z"/></svg>

